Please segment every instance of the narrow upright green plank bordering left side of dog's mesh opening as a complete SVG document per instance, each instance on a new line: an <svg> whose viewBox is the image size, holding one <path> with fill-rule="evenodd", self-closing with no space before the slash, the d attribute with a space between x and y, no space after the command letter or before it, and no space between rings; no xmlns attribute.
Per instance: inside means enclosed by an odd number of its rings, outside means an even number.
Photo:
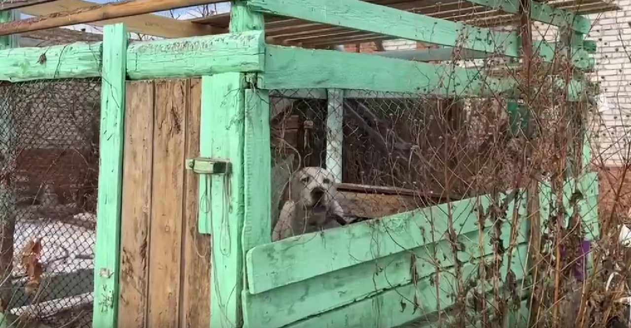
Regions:
<svg viewBox="0 0 631 328"><path fill-rule="evenodd" d="M271 149L267 90L245 90L243 250L271 242ZM244 254L245 255L245 254Z"/></svg>

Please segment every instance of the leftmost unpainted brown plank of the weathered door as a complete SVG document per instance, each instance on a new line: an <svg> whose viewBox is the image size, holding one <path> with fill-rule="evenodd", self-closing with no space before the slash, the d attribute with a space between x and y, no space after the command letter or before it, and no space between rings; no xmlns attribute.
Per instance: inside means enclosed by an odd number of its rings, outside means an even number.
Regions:
<svg viewBox="0 0 631 328"><path fill-rule="evenodd" d="M127 83L121 213L118 324L146 326L153 175L153 83Z"/></svg>

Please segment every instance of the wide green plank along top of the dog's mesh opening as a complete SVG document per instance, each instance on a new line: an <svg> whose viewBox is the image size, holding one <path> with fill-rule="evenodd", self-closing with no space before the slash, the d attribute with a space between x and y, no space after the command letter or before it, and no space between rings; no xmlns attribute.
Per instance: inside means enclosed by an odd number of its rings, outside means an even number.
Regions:
<svg viewBox="0 0 631 328"><path fill-rule="evenodd" d="M387 69L375 70L375 67ZM258 74L257 86L267 90L341 88L449 97L509 97L514 93L517 86L514 78L493 78L482 74L479 69L451 64L268 45L265 71ZM563 78L557 82L565 83ZM577 79L570 81L569 100L579 99L582 85Z"/></svg>

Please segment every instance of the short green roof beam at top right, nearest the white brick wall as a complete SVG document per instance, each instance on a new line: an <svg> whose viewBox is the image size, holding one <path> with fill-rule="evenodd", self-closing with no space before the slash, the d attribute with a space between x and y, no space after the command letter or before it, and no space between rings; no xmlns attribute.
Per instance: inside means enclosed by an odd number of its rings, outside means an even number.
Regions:
<svg viewBox="0 0 631 328"><path fill-rule="evenodd" d="M506 13L519 13L519 0L467 0L469 3L499 9ZM591 21L581 15L576 15L565 9L554 8L550 4L530 1L530 18L554 26L570 26L572 30L580 33L588 33L591 30Z"/></svg>

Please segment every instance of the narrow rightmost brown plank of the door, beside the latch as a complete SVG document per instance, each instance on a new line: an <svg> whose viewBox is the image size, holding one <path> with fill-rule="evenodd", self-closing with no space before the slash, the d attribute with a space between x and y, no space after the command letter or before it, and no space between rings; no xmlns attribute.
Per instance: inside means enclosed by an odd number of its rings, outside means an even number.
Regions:
<svg viewBox="0 0 631 328"><path fill-rule="evenodd" d="M186 158L199 154L201 81L191 79L186 107ZM184 173L184 257L182 258L182 310L180 327L210 325L210 235L198 232L198 175Z"/></svg>

